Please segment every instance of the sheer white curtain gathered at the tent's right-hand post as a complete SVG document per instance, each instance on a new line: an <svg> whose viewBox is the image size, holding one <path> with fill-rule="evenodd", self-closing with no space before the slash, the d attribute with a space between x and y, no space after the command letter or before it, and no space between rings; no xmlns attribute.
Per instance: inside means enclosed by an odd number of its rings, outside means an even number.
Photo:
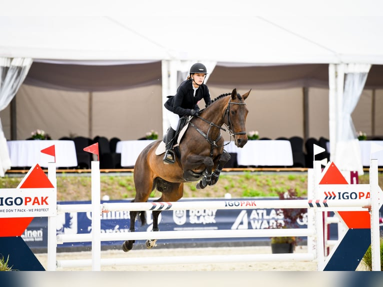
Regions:
<svg viewBox="0 0 383 287"><path fill-rule="evenodd" d="M370 65L351 65L347 67L343 100L341 106L341 123L338 125L335 162L340 170L358 171L363 174L359 141L352 122L354 110L367 79Z"/></svg>

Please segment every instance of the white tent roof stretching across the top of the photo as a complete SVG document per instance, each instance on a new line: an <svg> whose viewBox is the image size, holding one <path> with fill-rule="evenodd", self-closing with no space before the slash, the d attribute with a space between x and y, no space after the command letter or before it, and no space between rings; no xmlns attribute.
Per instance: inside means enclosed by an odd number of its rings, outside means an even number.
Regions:
<svg viewBox="0 0 383 287"><path fill-rule="evenodd" d="M201 9L179 1L117 1L121 6L114 8L126 11L120 16L0 16L0 56L83 65L161 61L164 100L175 92L177 71L185 72L194 61L206 63L212 73L215 63L383 64L383 38L379 36L383 17L363 14L368 3L347 4L347 9L353 8L351 12L331 15L283 10L284 14L257 16L254 11L263 7L253 1L235 1L226 8L222 8L227 4L224 1L219 3L222 7L208 2ZM281 9L289 5L277 2ZM337 5L343 8L341 3ZM373 1L373 9L381 11L381 4ZM332 94L342 98L343 87L332 88ZM166 124L164 119L163 128ZM330 121L330 129L336 130L336 124ZM330 132L330 140L337 140L335 134Z"/></svg>

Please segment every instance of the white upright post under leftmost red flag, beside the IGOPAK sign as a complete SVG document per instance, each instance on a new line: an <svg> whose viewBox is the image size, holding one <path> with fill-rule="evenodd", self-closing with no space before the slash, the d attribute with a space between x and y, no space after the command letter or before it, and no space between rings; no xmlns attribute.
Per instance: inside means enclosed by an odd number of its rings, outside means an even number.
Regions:
<svg viewBox="0 0 383 287"><path fill-rule="evenodd" d="M48 179L53 184L57 192L56 163L48 162ZM48 242L47 242L47 269L54 271L56 269L56 216L48 217Z"/></svg>

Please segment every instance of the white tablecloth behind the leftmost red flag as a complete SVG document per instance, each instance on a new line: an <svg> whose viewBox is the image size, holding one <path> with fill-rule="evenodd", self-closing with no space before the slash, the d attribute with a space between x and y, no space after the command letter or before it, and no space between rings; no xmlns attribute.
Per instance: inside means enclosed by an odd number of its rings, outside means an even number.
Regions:
<svg viewBox="0 0 383 287"><path fill-rule="evenodd" d="M33 166L38 163L47 167L54 157L41 149L54 145L56 167L77 166L76 149L72 140L8 140L9 157L12 167Z"/></svg>

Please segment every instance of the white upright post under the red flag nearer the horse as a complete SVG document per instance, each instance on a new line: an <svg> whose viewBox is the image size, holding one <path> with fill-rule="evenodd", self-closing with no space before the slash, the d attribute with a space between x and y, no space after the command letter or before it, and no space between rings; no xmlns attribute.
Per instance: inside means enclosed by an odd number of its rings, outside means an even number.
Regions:
<svg viewBox="0 0 383 287"><path fill-rule="evenodd" d="M91 162L91 206L92 206L92 223L91 223L91 238L92 238L92 270L101 270L101 194L100 194L100 172L99 161Z"/></svg>

